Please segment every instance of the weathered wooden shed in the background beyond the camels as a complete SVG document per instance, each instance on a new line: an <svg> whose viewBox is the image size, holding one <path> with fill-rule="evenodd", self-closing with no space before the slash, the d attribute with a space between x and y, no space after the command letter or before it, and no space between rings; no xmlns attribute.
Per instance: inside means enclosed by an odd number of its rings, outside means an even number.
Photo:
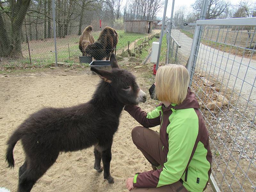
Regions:
<svg viewBox="0 0 256 192"><path fill-rule="evenodd" d="M154 21L130 20L124 21L124 31L131 33L151 33Z"/></svg>

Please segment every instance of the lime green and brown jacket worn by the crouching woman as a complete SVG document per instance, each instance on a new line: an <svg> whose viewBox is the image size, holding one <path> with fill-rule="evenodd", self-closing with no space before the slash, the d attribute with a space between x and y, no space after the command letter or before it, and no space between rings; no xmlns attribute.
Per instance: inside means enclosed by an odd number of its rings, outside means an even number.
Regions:
<svg viewBox="0 0 256 192"><path fill-rule="evenodd" d="M150 113L130 105L124 110L144 127L160 125L160 141L165 155L164 167L134 176L134 187L161 187L181 179L188 191L201 192L206 188L212 153L208 130L194 93L188 89L187 97L180 105L165 107L161 104Z"/></svg>

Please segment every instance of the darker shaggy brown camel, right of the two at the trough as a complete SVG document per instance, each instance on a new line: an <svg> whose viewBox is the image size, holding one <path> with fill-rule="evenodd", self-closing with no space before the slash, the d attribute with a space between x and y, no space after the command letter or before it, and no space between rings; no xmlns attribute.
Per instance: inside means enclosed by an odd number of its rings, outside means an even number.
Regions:
<svg viewBox="0 0 256 192"><path fill-rule="evenodd" d="M103 60L104 58L108 60L110 54L114 52L117 42L118 34L116 30L111 27L105 27L97 41L88 45L85 52L91 55L94 60Z"/></svg>

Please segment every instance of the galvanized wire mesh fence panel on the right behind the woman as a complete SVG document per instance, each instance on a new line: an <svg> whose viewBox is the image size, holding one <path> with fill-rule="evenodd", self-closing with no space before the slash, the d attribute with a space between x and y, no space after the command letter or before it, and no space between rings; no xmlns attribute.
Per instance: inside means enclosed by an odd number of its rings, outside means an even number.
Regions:
<svg viewBox="0 0 256 192"><path fill-rule="evenodd" d="M221 191L256 190L256 18L197 21L188 70Z"/></svg>

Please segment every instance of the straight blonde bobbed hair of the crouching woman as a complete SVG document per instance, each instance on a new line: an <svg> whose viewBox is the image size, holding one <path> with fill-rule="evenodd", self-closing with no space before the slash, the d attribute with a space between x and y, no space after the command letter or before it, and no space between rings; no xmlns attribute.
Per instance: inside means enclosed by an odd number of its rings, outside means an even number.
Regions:
<svg viewBox="0 0 256 192"><path fill-rule="evenodd" d="M156 72L155 97L179 105L186 99L188 84L189 74L184 66L164 65Z"/></svg>

